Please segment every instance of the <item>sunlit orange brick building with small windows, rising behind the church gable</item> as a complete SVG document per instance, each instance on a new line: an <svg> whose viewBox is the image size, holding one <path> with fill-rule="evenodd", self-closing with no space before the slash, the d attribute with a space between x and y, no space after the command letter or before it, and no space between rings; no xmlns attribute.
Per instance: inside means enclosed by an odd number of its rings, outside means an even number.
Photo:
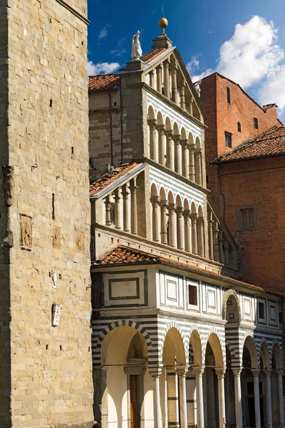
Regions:
<svg viewBox="0 0 285 428"><path fill-rule="evenodd" d="M230 90L230 103L227 102L227 87ZM207 187L217 203L219 193L217 166L210 165L210 162L229 151L225 146L224 133L232 133L234 148L271 126L280 126L280 123L276 118L276 108L271 108L265 113L239 86L216 73L202 80L200 99L207 114L208 126L205 133ZM258 119L258 129L254 129L254 118ZM241 123L242 132L237 131L238 122Z"/></svg>

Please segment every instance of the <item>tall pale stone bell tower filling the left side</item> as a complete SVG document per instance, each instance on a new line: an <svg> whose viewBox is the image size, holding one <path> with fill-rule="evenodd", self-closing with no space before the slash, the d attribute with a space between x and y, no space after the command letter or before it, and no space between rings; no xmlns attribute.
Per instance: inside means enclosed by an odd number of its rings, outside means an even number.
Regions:
<svg viewBox="0 0 285 428"><path fill-rule="evenodd" d="M87 427L87 1L0 14L0 427Z"/></svg>

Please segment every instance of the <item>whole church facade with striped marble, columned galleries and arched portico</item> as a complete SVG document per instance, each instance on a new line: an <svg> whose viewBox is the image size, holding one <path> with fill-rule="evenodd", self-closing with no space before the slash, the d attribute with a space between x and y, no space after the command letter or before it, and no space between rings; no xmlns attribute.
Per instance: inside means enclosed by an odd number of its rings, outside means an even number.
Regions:
<svg viewBox="0 0 285 428"><path fill-rule="evenodd" d="M284 424L283 300L241 280L207 190L199 88L177 48L163 30L89 89L95 419Z"/></svg>

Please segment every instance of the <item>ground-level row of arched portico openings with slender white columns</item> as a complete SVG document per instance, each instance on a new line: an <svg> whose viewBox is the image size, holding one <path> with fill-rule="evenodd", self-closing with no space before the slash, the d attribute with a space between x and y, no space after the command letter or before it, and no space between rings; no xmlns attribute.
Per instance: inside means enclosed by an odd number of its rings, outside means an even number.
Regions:
<svg viewBox="0 0 285 428"><path fill-rule="evenodd" d="M229 306L225 330L237 325L239 317L237 308ZM237 350L222 345L215 333L204 340L193 330L185 351L185 340L171 327L163 340L160 362L148 365L153 350L139 330L120 326L103 340L102 365L95 370L105 383L100 397L105 408L103 427L261 428L284 424L279 345L274 345L270 356L265 340L257 346L247 336L237 365L233 362Z"/></svg>

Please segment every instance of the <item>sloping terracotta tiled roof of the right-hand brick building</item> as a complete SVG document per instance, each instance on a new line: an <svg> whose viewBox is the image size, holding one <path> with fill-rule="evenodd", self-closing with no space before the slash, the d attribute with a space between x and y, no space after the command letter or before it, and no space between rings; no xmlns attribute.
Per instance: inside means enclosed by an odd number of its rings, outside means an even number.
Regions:
<svg viewBox="0 0 285 428"><path fill-rule="evenodd" d="M285 155L285 128L274 126L250 140L244 141L212 163L246 161L247 159Z"/></svg>

